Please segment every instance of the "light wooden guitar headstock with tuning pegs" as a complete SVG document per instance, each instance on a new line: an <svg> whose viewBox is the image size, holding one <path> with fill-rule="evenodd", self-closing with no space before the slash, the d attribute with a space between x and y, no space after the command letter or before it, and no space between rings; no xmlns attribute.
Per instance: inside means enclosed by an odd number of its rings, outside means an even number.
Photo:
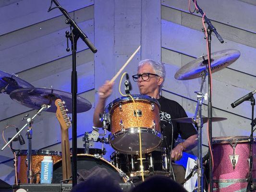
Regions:
<svg viewBox="0 0 256 192"><path fill-rule="evenodd" d="M65 102L61 101L61 99L55 100L55 105L57 107L56 117L59 120L59 123L61 124L61 129L65 130L71 126L71 122L67 114L67 109L64 106L64 103Z"/></svg>

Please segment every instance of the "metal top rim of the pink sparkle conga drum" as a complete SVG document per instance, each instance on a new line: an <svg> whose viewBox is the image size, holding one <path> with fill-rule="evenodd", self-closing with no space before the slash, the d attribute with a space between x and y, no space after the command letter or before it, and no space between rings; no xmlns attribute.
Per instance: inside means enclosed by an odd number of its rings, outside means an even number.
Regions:
<svg viewBox="0 0 256 192"><path fill-rule="evenodd" d="M219 140L217 140L219 138ZM226 138L226 139L225 139ZM213 137L213 144L230 144L230 143L245 143L249 142L249 136L229 136L229 137ZM254 141L256 138L254 138Z"/></svg>

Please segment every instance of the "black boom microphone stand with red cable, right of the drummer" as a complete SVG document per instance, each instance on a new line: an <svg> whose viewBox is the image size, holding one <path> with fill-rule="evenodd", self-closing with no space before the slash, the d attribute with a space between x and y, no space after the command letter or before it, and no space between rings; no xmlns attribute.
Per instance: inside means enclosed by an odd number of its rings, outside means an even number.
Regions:
<svg viewBox="0 0 256 192"><path fill-rule="evenodd" d="M193 2L195 2L196 7L198 8L198 12L200 12L202 15L205 15L205 13L203 12L203 10L198 6L197 2L195 0L193 0ZM214 32L215 35L217 36L218 40L220 43L224 43L224 40L222 39L222 37L218 34L216 28L213 26L213 24L211 23L211 21L207 18L207 16L204 16L205 19L205 23L208 24L207 27L207 37L205 36L205 39L207 38L208 41L208 54L209 54L209 64L211 64L211 33ZM202 28L203 32L205 32L205 29ZM207 73L209 74L209 66L208 66L208 62L207 62ZM208 75L208 127L209 127L209 147L212 148L212 96L211 96L211 78ZM213 191L213 185L212 185L212 161L213 159L211 158L211 156L209 155L209 185L210 185L210 189L209 192Z"/></svg>

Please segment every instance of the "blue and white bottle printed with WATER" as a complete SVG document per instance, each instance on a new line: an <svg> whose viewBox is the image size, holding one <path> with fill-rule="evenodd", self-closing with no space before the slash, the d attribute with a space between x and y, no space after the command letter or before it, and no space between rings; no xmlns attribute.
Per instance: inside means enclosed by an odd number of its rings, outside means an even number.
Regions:
<svg viewBox="0 0 256 192"><path fill-rule="evenodd" d="M41 183L51 183L53 162L51 156L44 156L41 162Z"/></svg>

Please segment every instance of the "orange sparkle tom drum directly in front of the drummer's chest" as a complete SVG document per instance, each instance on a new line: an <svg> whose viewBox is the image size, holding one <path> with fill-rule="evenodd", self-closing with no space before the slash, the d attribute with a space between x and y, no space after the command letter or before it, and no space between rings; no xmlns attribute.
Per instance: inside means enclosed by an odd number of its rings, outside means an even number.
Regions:
<svg viewBox="0 0 256 192"><path fill-rule="evenodd" d="M105 113L110 117L110 144L121 153L138 154L140 126L142 152L149 153L162 141L159 123L160 105L156 99L149 96L133 95L133 97L135 105L130 96L123 96L105 108Z"/></svg>

